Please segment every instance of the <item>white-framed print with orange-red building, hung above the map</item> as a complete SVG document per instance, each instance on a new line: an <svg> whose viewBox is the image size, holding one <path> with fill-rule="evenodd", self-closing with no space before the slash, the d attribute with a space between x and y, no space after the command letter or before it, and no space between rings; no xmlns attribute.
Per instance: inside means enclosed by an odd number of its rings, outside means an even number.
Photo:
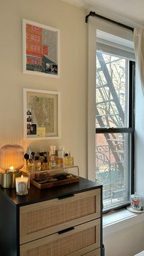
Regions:
<svg viewBox="0 0 144 256"><path fill-rule="evenodd" d="M60 30L22 20L23 73L60 77Z"/></svg>

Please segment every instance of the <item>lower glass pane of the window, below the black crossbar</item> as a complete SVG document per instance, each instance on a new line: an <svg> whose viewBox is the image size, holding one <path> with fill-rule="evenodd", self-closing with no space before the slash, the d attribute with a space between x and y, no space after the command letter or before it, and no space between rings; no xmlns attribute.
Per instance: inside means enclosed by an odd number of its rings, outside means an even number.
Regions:
<svg viewBox="0 0 144 256"><path fill-rule="evenodd" d="M96 134L96 179L103 184L104 210L129 202L131 135Z"/></svg>

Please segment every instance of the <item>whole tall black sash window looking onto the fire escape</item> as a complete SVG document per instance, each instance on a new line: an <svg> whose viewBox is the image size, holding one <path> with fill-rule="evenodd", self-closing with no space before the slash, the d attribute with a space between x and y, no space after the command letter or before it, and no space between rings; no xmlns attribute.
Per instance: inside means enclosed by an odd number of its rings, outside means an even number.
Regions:
<svg viewBox="0 0 144 256"><path fill-rule="evenodd" d="M113 41L96 46L96 179L104 211L127 205L134 187L135 62Z"/></svg>

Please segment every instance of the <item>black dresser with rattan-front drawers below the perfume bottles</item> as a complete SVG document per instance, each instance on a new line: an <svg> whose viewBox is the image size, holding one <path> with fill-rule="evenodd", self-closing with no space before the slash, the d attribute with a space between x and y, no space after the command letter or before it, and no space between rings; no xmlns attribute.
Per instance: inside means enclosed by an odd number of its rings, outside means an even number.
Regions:
<svg viewBox="0 0 144 256"><path fill-rule="evenodd" d="M102 186L85 178L17 196L0 188L1 256L102 256Z"/></svg>

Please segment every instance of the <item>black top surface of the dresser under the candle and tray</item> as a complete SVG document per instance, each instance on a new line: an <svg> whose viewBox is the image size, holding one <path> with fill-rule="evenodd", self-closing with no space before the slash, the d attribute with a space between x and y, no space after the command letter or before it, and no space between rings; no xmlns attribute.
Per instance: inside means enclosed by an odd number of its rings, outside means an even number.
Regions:
<svg viewBox="0 0 144 256"><path fill-rule="evenodd" d="M84 192L96 188L102 188L102 185L85 178L79 178L79 182L56 186L54 188L38 189L31 185L29 193L26 196L17 196L15 188L6 189L0 186L0 193L2 193L13 204L20 207L29 205L31 203L43 202L45 200L56 199L57 197L71 196L79 192Z"/></svg>

